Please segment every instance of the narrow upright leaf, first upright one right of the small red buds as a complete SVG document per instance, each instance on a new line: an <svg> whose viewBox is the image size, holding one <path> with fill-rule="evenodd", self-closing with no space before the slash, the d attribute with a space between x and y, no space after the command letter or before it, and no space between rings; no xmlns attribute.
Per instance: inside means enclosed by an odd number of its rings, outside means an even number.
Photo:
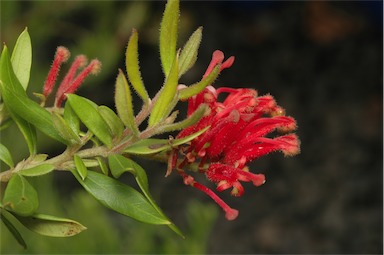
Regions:
<svg viewBox="0 0 384 255"><path fill-rule="evenodd" d="M131 90L129 89L128 81L121 70L119 70L119 75L116 79L115 105L117 114L124 125L137 135L139 129L135 123Z"/></svg>

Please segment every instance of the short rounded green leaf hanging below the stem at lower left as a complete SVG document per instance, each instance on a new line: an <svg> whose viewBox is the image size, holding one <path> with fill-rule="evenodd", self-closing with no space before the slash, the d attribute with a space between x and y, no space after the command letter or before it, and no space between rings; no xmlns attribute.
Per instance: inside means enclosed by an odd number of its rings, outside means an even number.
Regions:
<svg viewBox="0 0 384 255"><path fill-rule="evenodd" d="M18 215L32 215L39 207L37 192L23 176L14 174L5 189L3 205Z"/></svg>

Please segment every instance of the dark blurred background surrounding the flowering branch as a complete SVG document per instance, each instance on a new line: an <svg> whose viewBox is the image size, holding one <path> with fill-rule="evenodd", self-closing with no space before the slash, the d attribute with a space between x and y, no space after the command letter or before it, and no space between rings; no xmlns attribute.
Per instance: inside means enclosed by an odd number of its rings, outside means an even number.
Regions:
<svg viewBox="0 0 384 255"><path fill-rule="evenodd" d="M2 1L1 41L13 46L28 26L33 45L29 92L41 91L58 45L72 56L98 58L102 72L79 94L112 107L117 68L124 68L133 27L139 31L141 71L150 95L160 88L157 43L164 4ZM55 173L42 181L41 209L84 220L89 229L68 240L25 231L27 241L33 240L26 253L382 253L382 2L182 1L180 22L179 47L204 27L198 62L182 82L199 80L214 50L234 55L234 66L215 85L272 94L298 122L301 154L257 160L250 168L266 175L265 185L245 185L240 198L220 194L240 211L231 222L176 174L164 178L165 165L140 161L156 200L186 240L102 210L69 174ZM141 107L139 100L135 107ZM22 138L7 132L2 141L22 159L27 155ZM62 150L49 141L40 149L50 155ZM5 229L1 233L3 253L23 252Z"/></svg>

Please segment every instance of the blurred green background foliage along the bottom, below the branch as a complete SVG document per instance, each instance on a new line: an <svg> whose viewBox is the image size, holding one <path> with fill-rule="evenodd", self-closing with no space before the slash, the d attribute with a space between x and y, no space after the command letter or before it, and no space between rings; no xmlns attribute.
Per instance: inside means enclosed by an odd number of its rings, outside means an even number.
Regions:
<svg viewBox="0 0 384 255"><path fill-rule="evenodd" d="M212 204L189 201L185 208L186 223L183 230L186 239L175 238L166 227L143 224L117 214L111 215L95 199L82 191L59 197L44 177L45 185L39 185L39 194L48 195L46 208L55 214L66 213L71 218L89 226L87 231L68 240L36 235L16 222L19 234L29 243L24 250L3 226L0 235L1 254L206 254L207 243L218 210ZM48 182L46 182L48 181ZM183 210L184 212L184 210ZM90 215L92 217L90 217ZM3 219L3 217L2 217Z"/></svg>

